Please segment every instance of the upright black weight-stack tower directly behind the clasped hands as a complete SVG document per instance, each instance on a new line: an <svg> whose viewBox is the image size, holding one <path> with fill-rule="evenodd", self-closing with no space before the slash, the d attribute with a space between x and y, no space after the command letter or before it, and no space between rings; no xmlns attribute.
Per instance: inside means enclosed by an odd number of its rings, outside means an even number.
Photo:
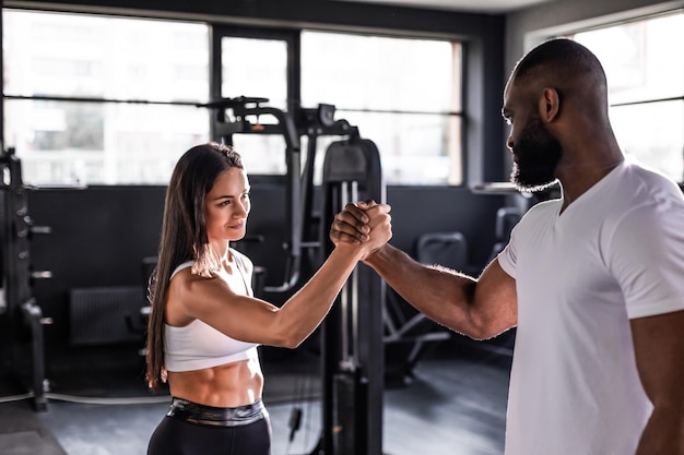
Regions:
<svg viewBox="0 0 684 455"><path fill-rule="evenodd" d="M321 238L349 202L386 202L375 144L354 135L332 143L323 161ZM332 251L330 241L326 252ZM323 430L315 454L380 455L385 385L385 282L358 264L322 327Z"/></svg>

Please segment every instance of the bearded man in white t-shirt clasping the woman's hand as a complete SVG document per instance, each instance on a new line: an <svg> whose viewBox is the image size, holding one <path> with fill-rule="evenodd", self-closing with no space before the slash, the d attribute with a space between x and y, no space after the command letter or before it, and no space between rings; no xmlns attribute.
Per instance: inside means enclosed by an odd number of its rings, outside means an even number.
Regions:
<svg viewBox="0 0 684 455"><path fill-rule="evenodd" d="M511 73L511 179L563 196L533 206L471 278L386 244L366 258L406 301L473 338L517 326L507 455L684 454L684 197L623 156L605 74L569 39ZM648 132L645 132L646 134ZM373 204L338 215L334 242L364 241Z"/></svg>

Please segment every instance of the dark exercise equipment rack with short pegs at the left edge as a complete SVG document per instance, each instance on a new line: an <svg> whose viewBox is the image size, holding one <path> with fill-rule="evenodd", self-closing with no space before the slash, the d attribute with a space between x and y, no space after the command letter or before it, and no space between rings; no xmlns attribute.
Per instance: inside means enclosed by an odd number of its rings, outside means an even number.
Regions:
<svg viewBox="0 0 684 455"><path fill-rule="evenodd" d="M27 191L32 188L22 181L21 160L13 148L0 152L0 176L4 340L13 372L31 391L34 408L43 411L47 410L43 325L51 321L43 316L31 285L34 279L51 277L51 273L33 270L30 243L33 235L49 234L50 228L35 226L28 216Z"/></svg>

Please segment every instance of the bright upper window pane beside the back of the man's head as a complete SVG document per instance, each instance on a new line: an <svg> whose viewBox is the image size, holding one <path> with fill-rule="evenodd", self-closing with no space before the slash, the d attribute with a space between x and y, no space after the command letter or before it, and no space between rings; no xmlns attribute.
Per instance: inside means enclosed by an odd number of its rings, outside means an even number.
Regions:
<svg viewBox="0 0 684 455"><path fill-rule="evenodd" d="M629 103L684 95L684 14L582 32L578 43L591 49L603 65L610 103Z"/></svg>

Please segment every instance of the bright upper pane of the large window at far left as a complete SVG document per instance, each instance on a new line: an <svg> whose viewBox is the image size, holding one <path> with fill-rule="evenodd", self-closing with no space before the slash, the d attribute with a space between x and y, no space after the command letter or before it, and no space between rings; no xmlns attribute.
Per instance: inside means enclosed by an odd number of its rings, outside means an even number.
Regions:
<svg viewBox="0 0 684 455"><path fill-rule="evenodd" d="M3 12L5 95L209 98L205 25Z"/></svg>

